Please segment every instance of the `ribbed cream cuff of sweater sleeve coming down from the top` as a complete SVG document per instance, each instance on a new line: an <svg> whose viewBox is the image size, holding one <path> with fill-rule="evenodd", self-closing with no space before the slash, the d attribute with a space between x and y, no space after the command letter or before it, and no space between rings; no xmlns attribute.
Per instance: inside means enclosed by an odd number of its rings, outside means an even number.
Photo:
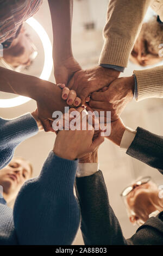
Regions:
<svg viewBox="0 0 163 256"><path fill-rule="evenodd" d="M99 64L127 67L134 42L122 38L107 38L104 41Z"/></svg>

